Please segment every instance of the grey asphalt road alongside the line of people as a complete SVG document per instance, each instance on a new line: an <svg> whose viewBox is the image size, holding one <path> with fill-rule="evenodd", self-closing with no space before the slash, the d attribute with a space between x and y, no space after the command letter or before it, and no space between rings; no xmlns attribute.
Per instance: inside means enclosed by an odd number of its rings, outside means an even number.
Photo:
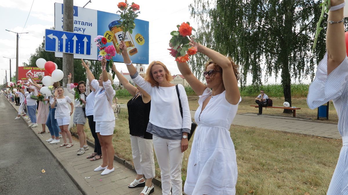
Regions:
<svg viewBox="0 0 348 195"><path fill-rule="evenodd" d="M14 120L16 115L1 95L0 194L81 194L24 120Z"/></svg>

